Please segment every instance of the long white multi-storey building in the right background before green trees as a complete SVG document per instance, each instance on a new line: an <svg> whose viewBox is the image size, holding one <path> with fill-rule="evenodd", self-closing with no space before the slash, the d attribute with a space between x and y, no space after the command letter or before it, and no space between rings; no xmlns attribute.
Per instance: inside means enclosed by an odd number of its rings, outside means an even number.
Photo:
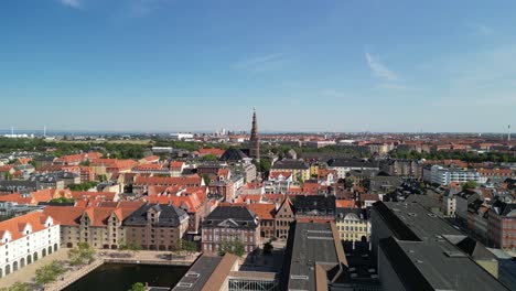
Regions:
<svg viewBox="0 0 516 291"><path fill-rule="evenodd" d="M467 181L485 184L486 179L482 177L475 170L443 168L441 165L432 165L430 169L430 183L432 184L450 185Z"/></svg>

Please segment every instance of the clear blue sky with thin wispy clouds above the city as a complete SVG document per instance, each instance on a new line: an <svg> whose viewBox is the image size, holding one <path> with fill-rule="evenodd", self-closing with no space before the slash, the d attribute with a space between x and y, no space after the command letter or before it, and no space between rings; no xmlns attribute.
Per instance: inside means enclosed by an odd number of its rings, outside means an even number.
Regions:
<svg viewBox="0 0 516 291"><path fill-rule="evenodd" d="M6 0L0 129L504 132L516 1Z"/></svg>

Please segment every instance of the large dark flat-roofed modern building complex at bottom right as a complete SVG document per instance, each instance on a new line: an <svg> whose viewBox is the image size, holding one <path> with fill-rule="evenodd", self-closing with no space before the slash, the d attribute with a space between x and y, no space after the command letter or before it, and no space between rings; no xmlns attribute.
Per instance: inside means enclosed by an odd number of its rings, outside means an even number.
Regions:
<svg viewBox="0 0 516 291"><path fill-rule="evenodd" d="M381 290L508 290L491 251L419 203L377 202L370 217Z"/></svg>

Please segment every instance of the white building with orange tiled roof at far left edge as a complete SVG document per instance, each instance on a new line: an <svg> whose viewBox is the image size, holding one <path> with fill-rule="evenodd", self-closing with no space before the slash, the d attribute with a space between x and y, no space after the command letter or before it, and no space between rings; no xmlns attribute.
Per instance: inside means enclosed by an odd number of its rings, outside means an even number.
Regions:
<svg viewBox="0 0 516 291"><path fill-rule="evenodd" d="M60 248L60 225L42 212L0 223L0 278Z"/></svg>

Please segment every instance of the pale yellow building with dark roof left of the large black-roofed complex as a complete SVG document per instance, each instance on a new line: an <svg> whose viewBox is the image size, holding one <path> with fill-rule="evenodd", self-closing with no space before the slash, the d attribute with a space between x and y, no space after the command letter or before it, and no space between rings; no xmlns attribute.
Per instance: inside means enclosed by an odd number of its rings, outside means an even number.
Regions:
<svg viewBox="0 0 516 291"><path fill-rule="evenodd" d="M341 240L369 241L370 222L363 208L336 208L335 225Z"/></svg>

